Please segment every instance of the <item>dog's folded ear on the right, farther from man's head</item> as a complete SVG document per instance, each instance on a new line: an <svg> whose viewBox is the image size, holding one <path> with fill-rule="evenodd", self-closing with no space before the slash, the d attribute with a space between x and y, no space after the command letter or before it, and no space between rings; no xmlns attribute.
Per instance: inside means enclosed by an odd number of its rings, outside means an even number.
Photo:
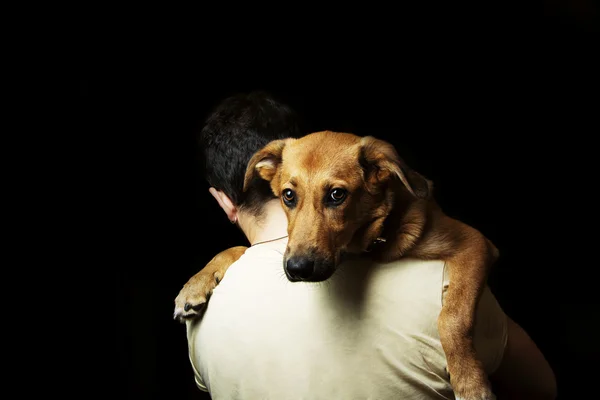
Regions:
<svg viewBox="0 0 600 400"><path fill-rule="evenodd" d="M385 182L397 176L416 198L426 199L431 195L431 181L408 167L394 146L383 140L373 136L361 138L359 160L369 183Z"/></svg>

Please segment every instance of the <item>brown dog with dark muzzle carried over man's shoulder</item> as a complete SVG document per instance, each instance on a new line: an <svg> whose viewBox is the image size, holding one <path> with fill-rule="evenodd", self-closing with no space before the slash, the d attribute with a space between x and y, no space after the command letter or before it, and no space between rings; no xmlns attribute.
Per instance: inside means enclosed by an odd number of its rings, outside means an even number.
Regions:
<svg viewBox="0 0 600 400"><path fill-rule="evenodd" d="M495 246L476 229L445 215L432 184L392 145L374 137L317 132L269 143L248 163L245 184L270 182L288 217L284 269L291 281L323 281L348 253L378 261L403 256L444 260L450 285L438 330L457 399L494 395L472 341L476 306ZM217 255L176 299L176 318L197 315L245 248Z"/></svg>

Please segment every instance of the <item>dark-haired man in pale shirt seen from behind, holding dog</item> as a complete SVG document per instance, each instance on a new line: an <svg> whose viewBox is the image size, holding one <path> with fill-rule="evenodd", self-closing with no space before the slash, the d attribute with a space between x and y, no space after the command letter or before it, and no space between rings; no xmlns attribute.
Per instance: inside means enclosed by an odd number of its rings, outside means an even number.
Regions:
<svg viewBox="0 0 600 400"><path fill-rule="evenodd" d="M199 388L213 399L454 398L437 332L443 262L354 259L326 282L286 279L279 200L266 182L242 184L255 151L298 133L292 111L261 93L225 100L201 132L210 193L251 246L187 322ZM556 397L543 355L487 288L474 341L497 393Z"/></svg>

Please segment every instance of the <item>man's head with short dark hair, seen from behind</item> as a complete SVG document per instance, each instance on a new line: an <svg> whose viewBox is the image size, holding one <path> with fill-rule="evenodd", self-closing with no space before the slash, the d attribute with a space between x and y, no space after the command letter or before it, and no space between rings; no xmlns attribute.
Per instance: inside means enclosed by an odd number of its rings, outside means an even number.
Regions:
<svg viewBox="0 0 600 400"><path fill-rule="evenodd" d="M232 207L260 216L264 203L274 197L262 179L252 180L243 190L252 155L272 140L298 136L294 111L265 92L228 97L213 110L198 138L204 177L232 222Z"/></svg>

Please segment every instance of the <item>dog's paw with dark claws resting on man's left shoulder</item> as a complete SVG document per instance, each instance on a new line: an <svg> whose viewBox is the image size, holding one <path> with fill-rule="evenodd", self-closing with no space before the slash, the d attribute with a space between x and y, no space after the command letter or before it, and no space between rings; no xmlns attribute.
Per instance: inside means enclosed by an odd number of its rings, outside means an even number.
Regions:
<svg viewBox="0 0 600 400"><path fill-rule="evenodd" d="M173 319L183 323L198 317L221 279L222 276L213 270L202 270L194 275L175 298Z"/></svg>

